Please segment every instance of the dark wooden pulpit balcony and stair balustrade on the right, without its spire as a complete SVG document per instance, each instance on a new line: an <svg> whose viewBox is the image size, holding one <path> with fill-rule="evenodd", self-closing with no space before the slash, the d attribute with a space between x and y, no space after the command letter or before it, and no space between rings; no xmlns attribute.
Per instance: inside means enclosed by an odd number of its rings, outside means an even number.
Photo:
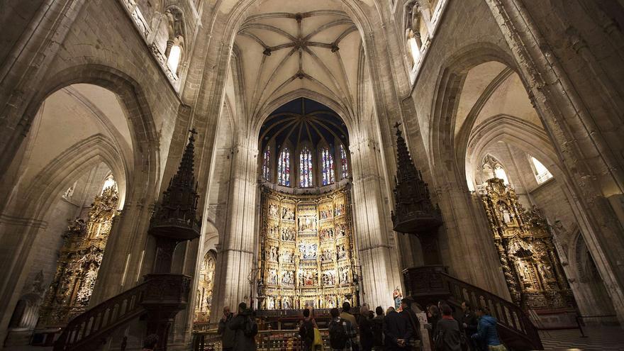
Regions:
<svg viewBox="0 0 624 351"><path fill-rule="evenodd" d="M506 299L477 286L462 282L446 273L442 266L425 266L403 270L407 294L425 306L446 300L459 307L462 301L484 306L498 320L498 333L513 350L543 350L537 328L526 313Z"/></svg>

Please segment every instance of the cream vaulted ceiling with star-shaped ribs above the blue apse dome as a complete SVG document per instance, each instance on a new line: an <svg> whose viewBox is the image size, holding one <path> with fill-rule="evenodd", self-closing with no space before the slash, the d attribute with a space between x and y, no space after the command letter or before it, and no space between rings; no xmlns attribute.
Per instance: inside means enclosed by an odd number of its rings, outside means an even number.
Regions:
<svg viewBox="0 0 624 351"><path fill-rule="evenodd" d="M245 110L257 116L279 96L307 89L352 112L361 38L335 1L267 1L235 39Z"/></svg>

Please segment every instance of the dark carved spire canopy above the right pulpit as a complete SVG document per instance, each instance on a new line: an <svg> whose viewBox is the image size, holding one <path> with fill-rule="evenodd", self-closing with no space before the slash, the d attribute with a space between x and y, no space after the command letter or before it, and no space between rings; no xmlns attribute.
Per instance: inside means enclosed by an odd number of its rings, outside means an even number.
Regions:
<svg viewBox="0 0 624 351"><path fill-rule="evenodd" d="M440 209L433 206L427 183L412 162L403 135L401 123L396 123L396 177L392 222L399 233L429 233L441 224Z"/></svg>

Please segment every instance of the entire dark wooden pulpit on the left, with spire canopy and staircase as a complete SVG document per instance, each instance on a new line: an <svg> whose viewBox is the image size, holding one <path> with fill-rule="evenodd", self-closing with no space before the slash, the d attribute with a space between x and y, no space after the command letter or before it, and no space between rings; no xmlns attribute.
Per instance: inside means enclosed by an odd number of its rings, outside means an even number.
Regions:
<svg viewBox="0 0 624 351"><path fill-rule="evenodd" d="M54 345L55 351L96 350L113 332L128 323L145 323L145 335L159 337L159 351L167 350L169 328L189 300L191 277L171 272L175 247L199 238L197 185L194 175L194 134L191 130L177 173L169 182L150 221L155 238L154 269L144 282L113 296L72 319Z"/></svg>

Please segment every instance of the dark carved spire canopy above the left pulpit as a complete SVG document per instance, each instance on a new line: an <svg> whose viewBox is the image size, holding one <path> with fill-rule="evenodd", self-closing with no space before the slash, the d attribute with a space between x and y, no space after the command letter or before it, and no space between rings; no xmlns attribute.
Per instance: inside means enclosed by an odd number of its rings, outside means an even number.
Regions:
<svg viewBox="0 0 624 351"><path fill-rule="evenodd" d="M162 203L152 215L151 235L178 240L199 238L201 222L197 217L199 196L194 170L196 131L192 129L190 132L178 171L169 182Z"/></svg>

